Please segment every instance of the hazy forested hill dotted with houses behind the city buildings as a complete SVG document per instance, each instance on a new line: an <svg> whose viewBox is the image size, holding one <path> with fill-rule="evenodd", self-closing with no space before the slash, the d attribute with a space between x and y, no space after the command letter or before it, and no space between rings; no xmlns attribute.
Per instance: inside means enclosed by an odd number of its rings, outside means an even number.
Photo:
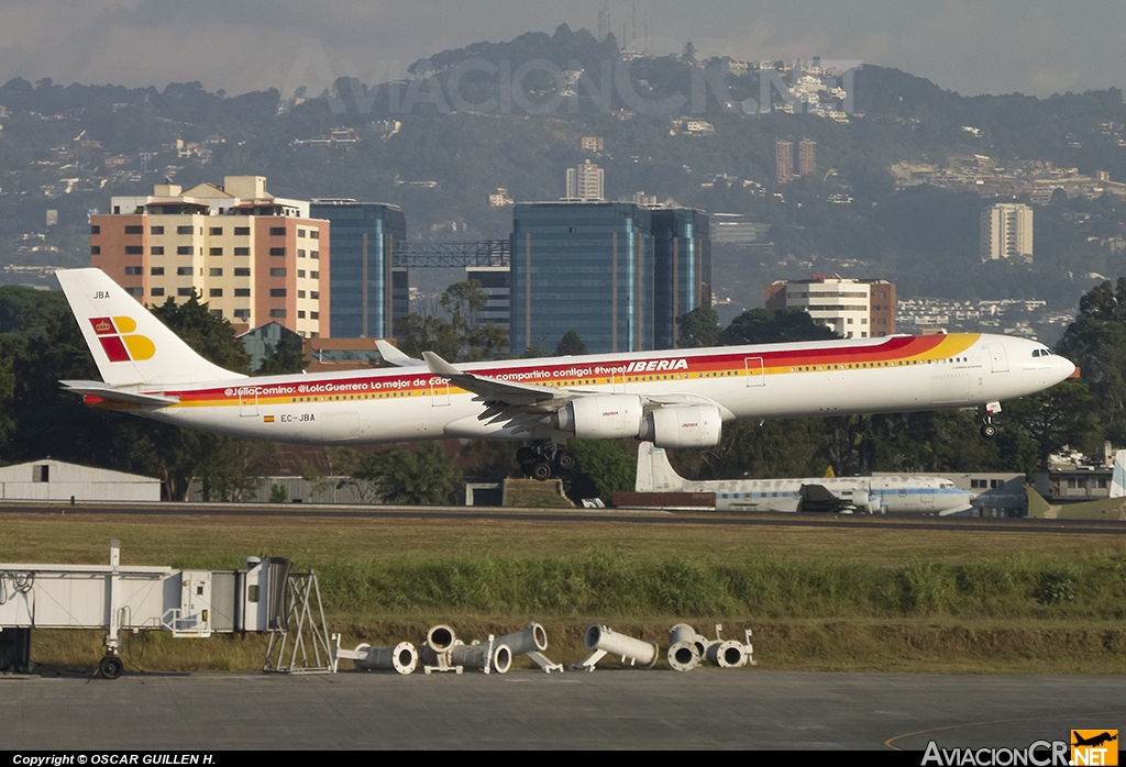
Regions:
<svg viewBox="0 0 1126 767"><path fill-rule="evenodd" d="M955 156L1126 180L1120 91L967 98L864 64L834 81L848 91L837 120L804 102L797 114L778 110L801 74L788 64L760 71L697 57L691 46L633 56L613 37L599 43L561 26L436 53L403 72L376 64L367 82L338 78L315 94L16 78L0 87L0 263L87 263L88 211L164 177L187 188L262 174L275 195L397 204L412 237L503 237L511 209L491 207L490 195L556 199L566 169L590 160L605 170L610 199L644 192L769 224L763 247L716 251L714 281L744 305L761 304L763 281L840 272L894 280L904 297L1040 297L1066 307L1090 274L1126 273L1114 245L1126 231L1117 198L1043 205L1031 264L982 264L978 215L995 199L903 189L888 172ZM583 151L584 136L604 148ZM816 142L815 174L779 186L779 139ZM48 210L57 225L46 225ZM34 281L11 271L2 279Z"/></svg>

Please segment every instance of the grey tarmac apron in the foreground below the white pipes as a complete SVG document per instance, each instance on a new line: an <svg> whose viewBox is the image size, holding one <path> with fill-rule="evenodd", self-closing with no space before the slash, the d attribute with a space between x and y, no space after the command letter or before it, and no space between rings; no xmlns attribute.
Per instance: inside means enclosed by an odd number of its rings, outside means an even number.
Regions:
<svg viewBox="0 0 1126 767"><path fill-rule="evenodd" d="M364 674L0 677L15 749L1024 748L1126 729L1124 677Z"/></svg>

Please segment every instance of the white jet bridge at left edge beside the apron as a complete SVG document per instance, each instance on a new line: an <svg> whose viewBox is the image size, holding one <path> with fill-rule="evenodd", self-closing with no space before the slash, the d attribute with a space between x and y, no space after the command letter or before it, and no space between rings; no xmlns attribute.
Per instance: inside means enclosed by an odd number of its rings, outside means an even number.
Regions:
<svg viewBox="0 0 1126 767"><path fill-rule="evenodd" d="M242 631L285 633L288 559L247 559L238 570L123 566L110 542L109 565L0 563L0 632L15 631L17 669L29 670L30 629L100 629L104 677L122 673L123 631L169 631L205 638ZM311 575L311 574L307 574Z"/></svg>

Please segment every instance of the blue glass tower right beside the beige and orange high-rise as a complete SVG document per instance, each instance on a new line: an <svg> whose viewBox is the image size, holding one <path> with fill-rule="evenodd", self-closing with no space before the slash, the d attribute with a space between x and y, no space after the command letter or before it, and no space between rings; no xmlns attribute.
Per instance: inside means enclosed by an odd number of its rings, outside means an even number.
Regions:
<svg viewBox="0 0 1126 767"><path fill-rule="evenodd" d="M395 244L406 240L406 218L394 205L315 199L310 210L332 226L332 335L385 339L408 313L395 303Z"/></svg>

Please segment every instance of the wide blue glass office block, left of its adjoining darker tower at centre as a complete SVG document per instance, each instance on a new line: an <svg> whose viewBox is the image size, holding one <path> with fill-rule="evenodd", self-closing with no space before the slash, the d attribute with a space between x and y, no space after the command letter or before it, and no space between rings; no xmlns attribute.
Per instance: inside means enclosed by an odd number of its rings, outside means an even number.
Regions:
<svg viewBox="0 0 1126 767"><path fill-rule="evenodd" d="M549 351L568 331L592 354L653 349L651 218L649 208L631 202L517 205L513 353Z"/></svg>

